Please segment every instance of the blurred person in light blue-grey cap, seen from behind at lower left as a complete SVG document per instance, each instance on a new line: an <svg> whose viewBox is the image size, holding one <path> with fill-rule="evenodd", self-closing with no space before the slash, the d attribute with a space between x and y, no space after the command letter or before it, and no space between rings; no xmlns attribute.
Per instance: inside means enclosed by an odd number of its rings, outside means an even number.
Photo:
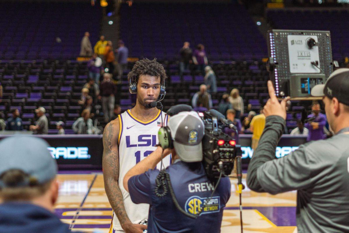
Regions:
<svg viewBox="0 0 349 233"><path fill-rule="evenodd" d="M53 213L57 163L47 147L46 141L32 136L0 141L0 233L70 232Z"/></svg>

